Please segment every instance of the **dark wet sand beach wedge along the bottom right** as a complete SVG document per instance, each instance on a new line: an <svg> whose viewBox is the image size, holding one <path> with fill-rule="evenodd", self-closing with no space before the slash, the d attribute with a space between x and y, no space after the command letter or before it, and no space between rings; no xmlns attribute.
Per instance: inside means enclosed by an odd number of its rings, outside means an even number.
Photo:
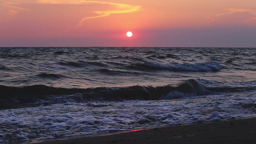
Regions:
<svg viewBox="0 0 256 144"><path fill-rule="evenodd" d="M256 144L256 118L169 126L38 144Z"/></svg>

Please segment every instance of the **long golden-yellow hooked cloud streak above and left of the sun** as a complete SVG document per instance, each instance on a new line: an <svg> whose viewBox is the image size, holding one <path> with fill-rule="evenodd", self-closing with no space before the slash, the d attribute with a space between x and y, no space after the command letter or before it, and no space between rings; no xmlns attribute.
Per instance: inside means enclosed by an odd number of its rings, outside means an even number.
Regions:
<svg viewBox="0 0 256 144"><path fill-rule="evenodd" d="M83 25L85 20L92 19L92 18L100 18L104 16L109 16L110 14L120 14L120 13L130 13L130 12L136 12L138 11L141 6L133 6L130 4L120 4L120 3L113 3L113 2L100 2L100 1L92 1L92 0L20 0L19 2L14 2L9 1L9 2L4 2L1 5L2 6L7 6L7 7L12 7L16 8L19 10L27 10L30 11L30 9L18 7L16 5L18 4L77 4L77 5L82 5L82 4L105 4L111 6L112 10L105 10L105 11L94 11L97 16L92 16L92 17L84 17L81 18L81 20L78 22L78 24L72 28L78 28ZM14 14L14 11L8 12L8 14Z"/></svg>

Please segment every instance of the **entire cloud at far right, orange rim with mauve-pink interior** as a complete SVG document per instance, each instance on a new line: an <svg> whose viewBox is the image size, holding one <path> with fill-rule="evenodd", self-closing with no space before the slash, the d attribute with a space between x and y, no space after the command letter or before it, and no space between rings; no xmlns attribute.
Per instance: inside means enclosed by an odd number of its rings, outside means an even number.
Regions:
<svg viewBox="0 0 256 144"><path fill-rule="evenodd" d="M228 9L224 9L224 10L227 10L228 12L216 14L215 16L212 16L212 17L210 17L210 16L206 17L210 20L208 25L210 26L212 24L212 22L227 23L227 21L231 17L234 17L233 18L234 25L238 24L238 23L256 25L256 11L255 10L239 9L239 8L228 8ZM236 17L234 15L236 15ZM241 16L241 15L243 15L243 16ZM230 24L231 23L232 22L230 22Z"/></svg>

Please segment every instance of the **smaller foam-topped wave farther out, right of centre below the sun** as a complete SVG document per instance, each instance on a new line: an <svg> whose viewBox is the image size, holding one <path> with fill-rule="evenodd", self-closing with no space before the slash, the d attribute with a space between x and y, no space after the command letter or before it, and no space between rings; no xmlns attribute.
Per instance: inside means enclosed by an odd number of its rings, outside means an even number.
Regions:
<svg viewBox="0 0 256 144"><path fill-rule="evenodd" d="M163 69L172 71L193 71L193 72L217 72L222 69L222 66L218 62L203 62L203 63L184 63L174 65L164 65L151 62L136 63L128 66L135 69Z"/></svg>

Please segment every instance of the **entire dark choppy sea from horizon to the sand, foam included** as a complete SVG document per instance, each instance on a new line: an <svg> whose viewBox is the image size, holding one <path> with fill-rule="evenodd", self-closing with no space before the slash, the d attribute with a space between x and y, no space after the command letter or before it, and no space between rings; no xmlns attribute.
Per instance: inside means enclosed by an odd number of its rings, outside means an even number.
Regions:
<svg viewBox="0 0 256 144"><path fill-rule="evenodd" d="M256 48L0 48L0 142L255 114Z"/></svg>

